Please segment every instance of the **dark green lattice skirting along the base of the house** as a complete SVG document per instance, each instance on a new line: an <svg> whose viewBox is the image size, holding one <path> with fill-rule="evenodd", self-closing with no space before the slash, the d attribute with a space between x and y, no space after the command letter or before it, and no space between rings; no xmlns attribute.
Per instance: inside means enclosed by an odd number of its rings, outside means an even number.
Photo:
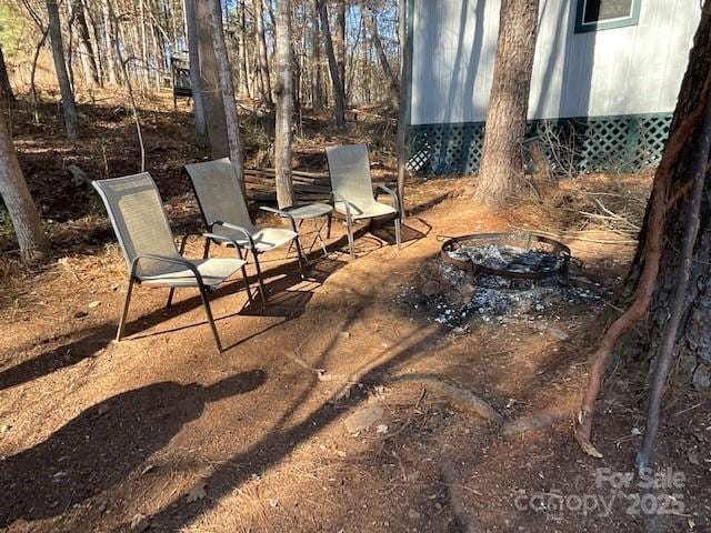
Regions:
<svg viewBox="0 0 711 533"><path fill-rule="evenodd" d="M543 153L559 173L634 172L659 163L670 123L671 113L535 120L521 148L529 164ZM408 169L418 175L475 173L483 135L483 122L411 125Z"/></svg>

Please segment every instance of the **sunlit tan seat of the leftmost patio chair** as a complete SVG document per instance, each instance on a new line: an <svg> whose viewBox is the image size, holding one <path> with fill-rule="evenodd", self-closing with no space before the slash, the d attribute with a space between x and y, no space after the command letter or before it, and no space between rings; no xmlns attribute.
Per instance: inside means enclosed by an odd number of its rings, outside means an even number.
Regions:
<svg viewBox="0 0 711 533"><path fill-rule="evenodd" d="M240 270L247 261L230 258L191 259L206 286L216 286ZM164 264L164 266L162 266ZM152 269L156 270L156 269ZM161 263L161 272L140 275L141 283L162 286L198 286L192 271L179 264Z"/></svg>

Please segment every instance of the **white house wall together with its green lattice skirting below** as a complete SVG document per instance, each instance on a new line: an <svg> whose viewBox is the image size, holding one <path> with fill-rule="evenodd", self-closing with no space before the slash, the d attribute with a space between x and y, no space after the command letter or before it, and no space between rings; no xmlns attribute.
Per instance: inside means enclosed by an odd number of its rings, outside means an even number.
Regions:
<svg viewBox="0 0 711 533"><path fill-rule="evenodd" d="M418 174L475 173L500 0L409 2L408 168ZM584 33L574 31L577 0L540 2L528 137L538 139L554 171L654 167L687 68L700 2L640 0L637 24ZM565 169L560 168L557 150L574 153Z"/></svg>

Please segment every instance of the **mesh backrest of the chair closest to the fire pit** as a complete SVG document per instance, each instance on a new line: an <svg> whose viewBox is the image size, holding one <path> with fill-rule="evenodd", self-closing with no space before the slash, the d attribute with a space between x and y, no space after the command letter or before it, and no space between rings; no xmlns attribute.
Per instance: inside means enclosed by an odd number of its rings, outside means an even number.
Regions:
<svg viewBox="0 0 711 533"><path fill-rule="evenodd" d="M352 201L372 202L373 183L370 179L370 161L365 144L348 144L326 149L329 160L331 189Z"/></svg>

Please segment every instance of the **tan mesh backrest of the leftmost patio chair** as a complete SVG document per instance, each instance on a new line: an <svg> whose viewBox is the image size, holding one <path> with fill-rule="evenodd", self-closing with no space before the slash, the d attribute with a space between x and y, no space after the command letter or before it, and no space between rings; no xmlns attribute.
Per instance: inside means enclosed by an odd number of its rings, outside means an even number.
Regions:
<svg viewBox="0 0 711 533"><path fill-rule="evenodd" d="M158 188L148 172L91 183L109 212L129 268L142 253L179 255ZM141 261L138 273L150 274L159 266L154 261Z"/></svg>

